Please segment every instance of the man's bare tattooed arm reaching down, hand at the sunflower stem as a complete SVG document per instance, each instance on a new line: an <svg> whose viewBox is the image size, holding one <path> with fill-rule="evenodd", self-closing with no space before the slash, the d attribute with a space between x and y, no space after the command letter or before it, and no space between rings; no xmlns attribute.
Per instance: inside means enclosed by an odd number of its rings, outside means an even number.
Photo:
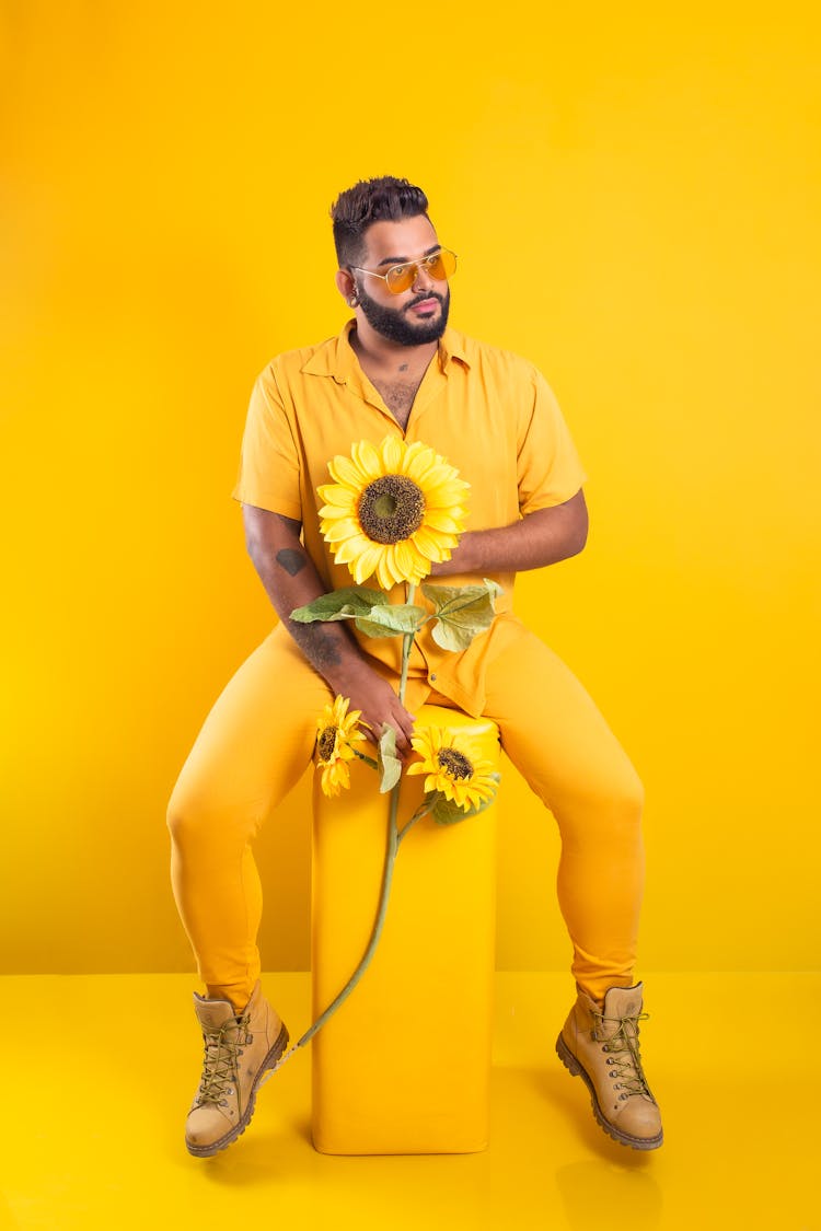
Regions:
<svg viewBox="0 0 821 1231"><path fill-rule="evenodd" d="M390 684L366 661L342 622L299 624L290 619L297 607L325 593L316 567L300 539L300 523L281 513L242 505L245 542L268 598L294 641L335 694L350 697L351 709L378 739L384 723L396 730L396 747L410 751L414 719L400 705ZM366 732L367 734L367 732Z"/></svg>

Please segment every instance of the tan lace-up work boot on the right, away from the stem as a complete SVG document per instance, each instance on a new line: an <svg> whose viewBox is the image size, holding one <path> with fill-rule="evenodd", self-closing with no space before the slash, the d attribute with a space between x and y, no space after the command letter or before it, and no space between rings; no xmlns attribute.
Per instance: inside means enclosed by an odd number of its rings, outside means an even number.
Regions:
<svg viewBox="0 0 821 1231"><path fill-rule="evenodd" d="M603 1009L580 991L556 1040L561 1062L590 1089L601 1126L634 1150L655 1150L663 1141L661 1113L639 1055L639 1022L645 1016L641 984L611 987Z"/></svg>

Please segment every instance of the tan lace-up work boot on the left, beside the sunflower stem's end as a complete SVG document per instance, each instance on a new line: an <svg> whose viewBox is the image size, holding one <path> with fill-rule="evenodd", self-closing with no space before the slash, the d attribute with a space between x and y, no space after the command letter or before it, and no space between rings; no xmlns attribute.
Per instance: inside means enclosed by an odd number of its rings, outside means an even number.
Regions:
<svg viewBox="0 0 821 1231"><path fill-rule="evenodd" d="M186 1146L206 1158L245 1133L257 1088L288 1046L288 1032L263 998L258 980L240 1014L230 1001L196 992L193 1003L206 1056L186 1121Z"/></svg>

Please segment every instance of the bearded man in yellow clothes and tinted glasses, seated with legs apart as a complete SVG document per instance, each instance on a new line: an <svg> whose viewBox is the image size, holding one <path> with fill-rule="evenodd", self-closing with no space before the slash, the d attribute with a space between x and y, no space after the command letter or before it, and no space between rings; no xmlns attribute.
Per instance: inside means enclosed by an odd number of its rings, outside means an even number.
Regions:
<svg viewBox="0 0 821 1231"><path fill-rule="evenodd" d="M335 694L362 710L372 739L390 724L401 756L425 700L496 721L561 833L558 892L577 997L556 1050L588 1086L602 1128L655 1149L661 1119L641 1071L633 984L641 785L587 693L512 611L517 571L582 549L583 473L539 372L448 327L455 257L423 192L390 177L359 182L331 215L336 286L353 319L260 375L234 492L281 623L218 699L169 811L175 895L206 985L194 997L206 1055L188 1150L212 1155L244 1131L288 1041L258 982L262 899L250 843L305 771L316 718ZM455 585L491 577L502 588L491 629L468 650L446 654L427 630L417 636L407 708L396 694L400 639L289 619L351 583L319 531L327 462L390 435L431 446L470 484L468 529L433 575Z"/></svg>

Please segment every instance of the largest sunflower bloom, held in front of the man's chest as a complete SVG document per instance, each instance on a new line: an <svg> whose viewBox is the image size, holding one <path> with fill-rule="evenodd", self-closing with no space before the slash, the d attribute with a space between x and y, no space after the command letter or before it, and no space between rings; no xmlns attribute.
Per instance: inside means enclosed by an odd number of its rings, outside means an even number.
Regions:
<svg viewBox="0 0 821 1231"><path fill-rule="evenodd" d="M396 436L378 446L359 441L327 469L335 481L319 487L320 529L357 586L374 572L384 590L416 585L432 564L451 559L470 485L427 444Z"/></svg>

